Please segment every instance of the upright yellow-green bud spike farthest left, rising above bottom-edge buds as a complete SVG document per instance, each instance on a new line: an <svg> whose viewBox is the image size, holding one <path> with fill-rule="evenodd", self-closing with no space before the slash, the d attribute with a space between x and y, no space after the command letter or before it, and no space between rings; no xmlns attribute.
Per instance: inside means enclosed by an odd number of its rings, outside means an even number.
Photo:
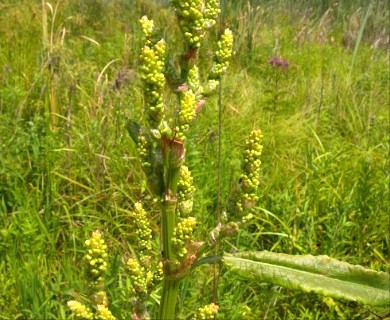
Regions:
<svg viewBox="0 0 390 320"><path fill-rule="evenodd" d="M99 230L92 232L85 244L88 248L85 260L87 260L89 273L92 277L91 286L99 288L103 286L103 274L107 269L107 245Z"/></svg>

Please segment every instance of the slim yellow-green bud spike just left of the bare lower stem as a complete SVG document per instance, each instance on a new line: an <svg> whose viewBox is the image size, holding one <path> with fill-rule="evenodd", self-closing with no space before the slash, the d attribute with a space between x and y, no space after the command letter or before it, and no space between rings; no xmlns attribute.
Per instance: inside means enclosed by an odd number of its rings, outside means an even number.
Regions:
<svg viewBox="0 0 390 320"><path fill-rule="evenodd" d="M141 255L152 251L152 229L146 211L140 202L134 205L135 234Z"/></svg>

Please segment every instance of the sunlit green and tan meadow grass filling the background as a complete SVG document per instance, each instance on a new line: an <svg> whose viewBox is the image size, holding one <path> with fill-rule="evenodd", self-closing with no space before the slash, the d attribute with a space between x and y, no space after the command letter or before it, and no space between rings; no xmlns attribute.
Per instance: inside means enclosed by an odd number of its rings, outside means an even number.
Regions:
<svg viewBox="0 0 390 320"><path fill-rule="evenodd" d="M109 245L110 309L128 319L122 262L137 246L126 210L141 200L158 216L125 129L128 119L144 120L137 23L153 16L168 44L179 43L177 27L166 1L42 3L0 4L0 319L70 319L66 302L87 291L83 243L96 229ZM258 214L221 246L326 254L388 270L388 4L222 5L224 24L236 33L222 83L223 205L251 129L262 129L264 149ZM273 56L288 69L271 66ZM214 227L217 112L209 100L187 144L199 239ZM207 267L184 280L180 318L210 302L211 288ZM362 306L226 270L219 304L220 319L376 318Z"/></svg>

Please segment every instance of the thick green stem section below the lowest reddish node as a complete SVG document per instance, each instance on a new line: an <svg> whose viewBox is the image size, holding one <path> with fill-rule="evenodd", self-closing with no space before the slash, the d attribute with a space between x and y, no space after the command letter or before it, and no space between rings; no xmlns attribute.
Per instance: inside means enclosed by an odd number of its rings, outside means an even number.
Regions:
<svg viewBox="0 0 390 320"><path fill-rule="evenodd" d="M180 279L164 278L161 295L159 319L175 319L177 295Z"/></svg>

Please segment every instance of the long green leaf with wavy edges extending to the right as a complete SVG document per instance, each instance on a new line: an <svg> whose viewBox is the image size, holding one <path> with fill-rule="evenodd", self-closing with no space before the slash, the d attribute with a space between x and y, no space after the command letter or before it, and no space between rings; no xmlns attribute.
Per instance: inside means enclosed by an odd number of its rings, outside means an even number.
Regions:
<svg viewBox="0 0 390 320"><path fill-rule="evenodd" d="M246 278L288 289L377 307L386 307L390 303L389 273L351 265L328 256L239 252L224 254L222 261Z"/></svg>

